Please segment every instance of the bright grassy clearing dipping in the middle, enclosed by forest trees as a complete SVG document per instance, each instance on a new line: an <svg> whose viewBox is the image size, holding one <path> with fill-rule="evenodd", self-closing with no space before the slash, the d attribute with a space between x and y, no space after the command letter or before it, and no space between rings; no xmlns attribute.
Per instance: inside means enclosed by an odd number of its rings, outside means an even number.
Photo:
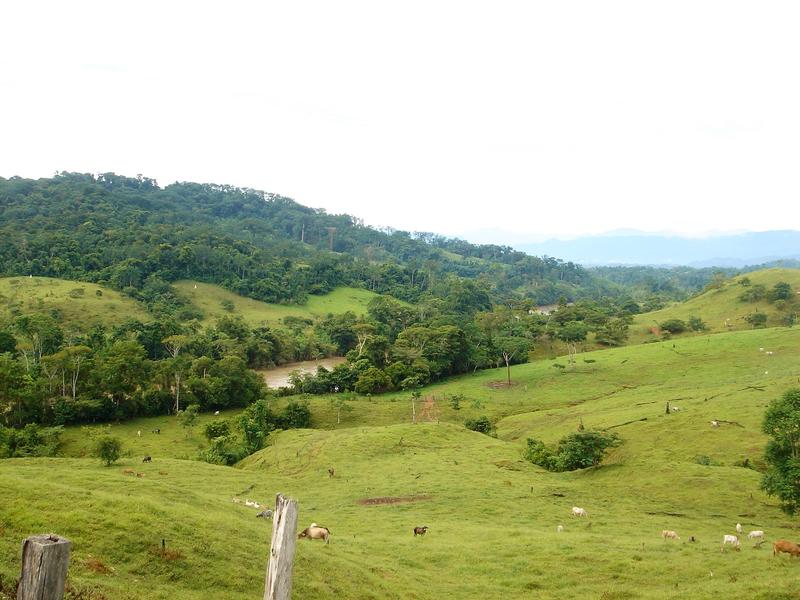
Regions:
<svg viewBox="0 0 800 600"><path fill-rule="evenodd" d="M368 290L345 287L323 296L309 296L308 302L303 305L268 304L239 296L209 283L178 281L174 286L183 297L203 312L205 323L213 323L224 315L239 315L251 325L278 321L285 317L311 318L347 311L361 315L367 312L369 301L378 295ZM230 302L233 310L226 310L223 302Z"/></svg>

